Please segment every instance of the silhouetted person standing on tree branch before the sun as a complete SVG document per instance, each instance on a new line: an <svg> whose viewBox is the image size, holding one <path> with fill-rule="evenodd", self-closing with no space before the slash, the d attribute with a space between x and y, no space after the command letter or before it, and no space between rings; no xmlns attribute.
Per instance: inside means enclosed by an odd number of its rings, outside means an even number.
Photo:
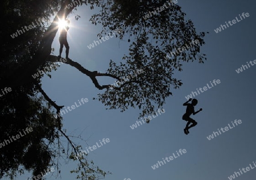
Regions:
<svg viewBox="0 0 256 180"><path fill-rule="evenodd" d="M70 23L70 21L67 19L65 20L67 22L67 26L63 27L60 29L60 37L59 37L59 41L60 41L60 55L58 56L59 59L61 57L61 53L63 51L63 45L65 45L66 48L66 58L68 59L68 53L69 53L69 45L68 45L68 41L67 41L67 34L68 34L68 24Z"/></svg>

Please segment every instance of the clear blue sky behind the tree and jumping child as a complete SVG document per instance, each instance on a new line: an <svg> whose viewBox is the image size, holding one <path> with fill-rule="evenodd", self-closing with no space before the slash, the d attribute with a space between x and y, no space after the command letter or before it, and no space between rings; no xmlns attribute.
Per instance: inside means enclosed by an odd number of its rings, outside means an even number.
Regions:
<svg viewBox="0 0 256 180"><path fill-rule="evenodd" d="M164 104L165 113L151 120L149 124L142 124L131 129L139 116L138 109L129 109L123 113L120 110L105 110L104 104L93 101L102 90L96 89L91 80L69 65L61 65L52 78L43 78L43 89L49 97L60 106L71 106L81 98L89 101L63 116L64 128L68 135L80 135L84 141L73 139L83 149L95 145L99 140L109 138L110 142L89 153L88 160L93 160L102 170L111 171L106 180L155 180L155 179L191 179L216 180L228 179L234 171L253 165L256 161L254 137L255 114L254 85L256 66L237 73L246 62L256 59L255 56L255 16L254 1L178 1L177 5L187 14L187 18L195 23L197 32L207 32L206 44L201 53L207 54L208 60L204 64L189 62L183 64L183 71L174 74L181 79L183 86L172 90L173 96ZM92 13L85 6L79 7L76 14L81 16L79 21L74 15L68 32L70 46L69 57L79 62L89 70L104 71L108 69L109 60L120 62L122 56L128 53L129 43L114 37L89 49L87 45L97 40L101 27L88 21ZM214 30L248 12L249 17L226 28ZM55 37L52 47L55 55L59 52ZM64 57L65 48L63 51ZM183 128L186 122L181 119L185 112L182 106L187 99L185 96L204 87L213 79L220 79L221 83L197 95L199 103L196 110L203 108L199 114L192 116L198 124L185 135ZM113 83L111 78L100 78L100 83ZM222 133L220 136L208 140L207 136L218 128L224 128L241 119L242 123ZM176 150L186 149L187 153L171 162L153 170L151 166L169 157ZM76 168L76 164L69 162L61 166L62 179L76 179L69 171ZM236 179L254 179L256 170L251 169ZM26 179L28 174L16 179ZM47 176L47 179L55 179Z"/></svg>

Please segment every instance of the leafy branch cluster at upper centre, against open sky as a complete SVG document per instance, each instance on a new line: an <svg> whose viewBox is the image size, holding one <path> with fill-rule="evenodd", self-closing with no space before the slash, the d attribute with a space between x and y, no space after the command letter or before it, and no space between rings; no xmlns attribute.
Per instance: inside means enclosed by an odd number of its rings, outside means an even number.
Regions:
<svg viewBox="0 0 256 180"><path fill-rule="evenodd" d="M196 33L191 20L185 20L185 13L178 5L153 15L144 20L142 17L148 11L154 11L166 1L108 1L98 14L90 21L103 26L98 36L108 34L117 28L122 28L119 39L130 43L129 55L123 56L123 62L117 65L110 61L108 73L114 76L125 76L125 73L136 69L144 69L146 73L122 86L98 94L98 100L110 108L121 108L125 111L129 106L142 108L139 117L151 114L161 108L166 98L171 95L171 87L179 88L182 83L173 77L174 70L182 70L182 62L199 60L204 62L205 55L200 54L200 46L205 44L204 32ZM183 51L170 59L166 58L176 47L183 47L192 40L199 44L193 45L188 51ZM156 105L155 105L156 104Z"/></svg>

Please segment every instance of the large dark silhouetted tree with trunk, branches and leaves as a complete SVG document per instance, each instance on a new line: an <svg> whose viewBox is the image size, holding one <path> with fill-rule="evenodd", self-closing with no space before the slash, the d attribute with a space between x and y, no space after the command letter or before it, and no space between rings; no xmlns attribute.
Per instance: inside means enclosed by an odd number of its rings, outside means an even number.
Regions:
<svg viewBox="0 0 256 180"><path fill-rule="evenodd" d="M66 156L69 160L76 160L75 154L81 149L81 146L73 143L65 134L62 118L53 117L63 106L58 106L52 97L44 93L40 80L43 75L35 79L31 76L38 70L48 69L47 72L51 72L50 67L57 61L57 57L51 55L52 41L57 32L56 21L58 17L67 17L72 11L80 8L78 5L65 9L72 2L2 1L2 17L6 21L6 28L0 31L0 89L11 87L12 91L0 97L0 143L27 127L32 127L33 131L30 135L0 148L0 178L12 178L17 172L23 173L24 170L32 170L34 175L38 175L49 166L58 167L60 157ZM151 114L155 106L163 106L173 88L182 85L180 79L174 78L175 69L181 71L183 62L203 62L205 58L200 53L205 34L197 34L192 21L185 19L185 13L179 5L172 5L145 19L143 16L163 6L166 1L81 2L84 6L90 6L90 9L100 7L100 11L90 19L92 24L102 25L99 37L121 29L122 32L117 34L117 37L130 43L129 54L123 56L121 62L110 60L106 73L90 72L73 60L65 62L92 79L97 89L104 90L98 94L97 99L108 108L125 111L129 107L138 107L142 109L140 116ZM49 22L51 16L55 17L53 22ZM76 19L79 17L77 15ZM24 26L35 23L39 18L44 20L38 26L15 38L10 36L22 30ZM198 40L199 44L180 52L177 56L167 58L175 48L183 47L192 40ZM143 73L128 81L122 80L139 69L143 69ZM100 85L98 76L112 77L123 82L119 87ZM71 152L65 150L60 143L62 138L68 141ZM77 178L92 180L105 177L109 173L94 166L88 157L79 158L77 161L78 167L72 171L78 174Z"/></svg>

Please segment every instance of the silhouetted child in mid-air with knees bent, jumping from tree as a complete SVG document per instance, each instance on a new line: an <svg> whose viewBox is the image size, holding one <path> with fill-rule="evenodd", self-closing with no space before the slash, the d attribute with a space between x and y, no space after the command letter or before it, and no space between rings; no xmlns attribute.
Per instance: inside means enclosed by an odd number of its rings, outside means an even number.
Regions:
<svg viewBox="0 0 256 180"><path fill-rule="evenodd" d="M197 122L195 120L193 120L192 118L190 118L189 116L191 114L195 115L198 112L203 110L202 108L200 108L200 110L195 112L194 106L196 106L196 104L197 104L197 99L193 99L191 103L188 103L191 100L192 99L190 98L187 102L185 102L183 104L183 106L187 106L186 113L182 116L182 119L185 120L186 122L188 122L184 129L184 133L186 135L189 133L188 129L194 127L197 124ZM192 124L190 126L188 126L190 123L192 123Z"/></svg>

